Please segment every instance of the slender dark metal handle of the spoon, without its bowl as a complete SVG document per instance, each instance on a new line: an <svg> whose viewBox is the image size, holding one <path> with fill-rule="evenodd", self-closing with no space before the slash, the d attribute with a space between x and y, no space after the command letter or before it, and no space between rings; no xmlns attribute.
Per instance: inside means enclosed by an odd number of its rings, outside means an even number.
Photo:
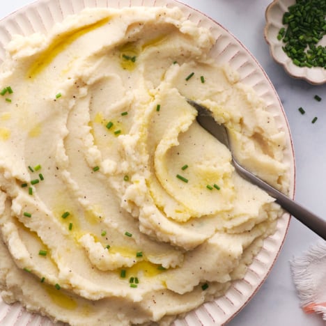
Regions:
<svg viewBox="0 0 326 326"><path fill-rule="evenodd" d="M261 189L264 189L267 194L274 197L276 202L281 205L284 210L287 210L290 215L293 215L296 219L302 222L305 226L311 229L311 231L318 234L321 238L326 240L326 220L318 217L317 215L313 214L306 208L302 207L302 205L296 203L292 199L290 199L285 194L279 192L279 190L275 189L274 187L265 183L265 181L261 180L253 173L249 172L247 169L244 169L243 166L238 164L236 160L233 160L233 164L235 169L240 173L241 176L247 178L251 183L257 185Z"/></svg>

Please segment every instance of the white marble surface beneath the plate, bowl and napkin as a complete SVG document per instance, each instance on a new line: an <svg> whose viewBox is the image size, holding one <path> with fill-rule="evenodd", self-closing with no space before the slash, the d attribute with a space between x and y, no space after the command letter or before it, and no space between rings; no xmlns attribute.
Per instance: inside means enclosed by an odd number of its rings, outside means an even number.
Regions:
<svg viewBox="0 0 326 326"><path fill-rule="evenodd" d="M184 0L209 15L233 33L254 54L279 93L290 124L297 164L296 200L316 214L326 211L326 84L312 86L288 77L275 63L263 38L265 9L272 0ZM1 1L0 17L5 17L31 0ZM314 95L323 98L321 102ZM302 116L298 107L303 107ZM315 124L313 117L318 116ZM292 218L284 247L269 277L230 326L322 326L320 316L300 309L290 274L290 259L316 243L318 236Z"/></svg>

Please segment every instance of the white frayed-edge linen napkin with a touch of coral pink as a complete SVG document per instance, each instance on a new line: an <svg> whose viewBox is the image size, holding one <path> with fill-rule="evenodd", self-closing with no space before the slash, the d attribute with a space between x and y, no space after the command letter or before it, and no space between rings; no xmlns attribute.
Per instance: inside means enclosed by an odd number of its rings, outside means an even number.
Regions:
<svg viewBox="0 0 326 326"><path fill-rule="evenodd" d="M323 313L326 320L326 242L317 242L303 256L293 258L290 266L302 309Z"/></svg>

